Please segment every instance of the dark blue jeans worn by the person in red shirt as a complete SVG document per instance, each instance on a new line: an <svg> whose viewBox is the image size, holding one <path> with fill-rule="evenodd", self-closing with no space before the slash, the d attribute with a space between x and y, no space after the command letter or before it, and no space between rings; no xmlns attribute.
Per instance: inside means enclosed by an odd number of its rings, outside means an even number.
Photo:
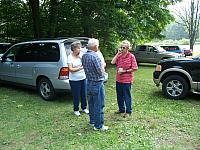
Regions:
<svg viewBox="0 0 200 150"><path fill-rule="evenodd" d="M116 82L116 91L119 111L122 113L132 113L131 83Z"/></svg>

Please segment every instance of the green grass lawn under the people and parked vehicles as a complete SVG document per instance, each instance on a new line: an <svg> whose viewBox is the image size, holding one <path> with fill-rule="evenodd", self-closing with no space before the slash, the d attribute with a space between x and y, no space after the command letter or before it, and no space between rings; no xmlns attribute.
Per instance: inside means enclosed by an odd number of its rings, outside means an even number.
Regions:
<svg viewBox="0 0 200 150"><path fill-rule="evenodd" d="M154 150L200 148L200 96L166 99L152 80L155 65L140 65L132 86L133 114L117 111L115 68L105 84L105 125L94 131L86 114L73 115L72 96L43 101L36 91L0 87L0 150Z"/></svg>

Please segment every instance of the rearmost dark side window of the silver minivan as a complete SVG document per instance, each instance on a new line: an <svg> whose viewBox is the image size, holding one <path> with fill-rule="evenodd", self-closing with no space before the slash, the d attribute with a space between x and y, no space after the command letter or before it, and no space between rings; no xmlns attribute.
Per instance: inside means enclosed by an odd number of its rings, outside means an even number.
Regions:
<svg viewBox="0 0 200 150"><path fill-rule="evenodd" d="M39 62L57 62L60 59L58 43L34 43Z"/></svg>

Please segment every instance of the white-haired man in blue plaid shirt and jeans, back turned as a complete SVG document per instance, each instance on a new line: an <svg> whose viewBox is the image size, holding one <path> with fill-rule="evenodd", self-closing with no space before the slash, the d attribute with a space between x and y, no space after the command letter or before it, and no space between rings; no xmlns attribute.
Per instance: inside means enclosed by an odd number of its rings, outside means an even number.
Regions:
<svg viewBox="0 0 200 150"><path fill-rule="evenodd" d="M99 47L99 40L89 39L88 51L82 57L82 64L87 78L87 95L90 124L94 130L107 130L104 126L104 67L96 53Z"/></svg>

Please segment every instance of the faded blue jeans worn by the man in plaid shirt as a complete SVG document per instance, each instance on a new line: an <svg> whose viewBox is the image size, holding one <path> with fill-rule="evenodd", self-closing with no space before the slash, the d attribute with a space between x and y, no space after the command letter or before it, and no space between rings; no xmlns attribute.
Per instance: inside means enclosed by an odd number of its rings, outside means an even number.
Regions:
<svg viewBox="0 0 200 150"><path fill-rule="evenodd" d="M102 128L104 125L104 101L105 92L103 81L87 81L87 95L90 124L94 124L96 128Z"/></svg>

